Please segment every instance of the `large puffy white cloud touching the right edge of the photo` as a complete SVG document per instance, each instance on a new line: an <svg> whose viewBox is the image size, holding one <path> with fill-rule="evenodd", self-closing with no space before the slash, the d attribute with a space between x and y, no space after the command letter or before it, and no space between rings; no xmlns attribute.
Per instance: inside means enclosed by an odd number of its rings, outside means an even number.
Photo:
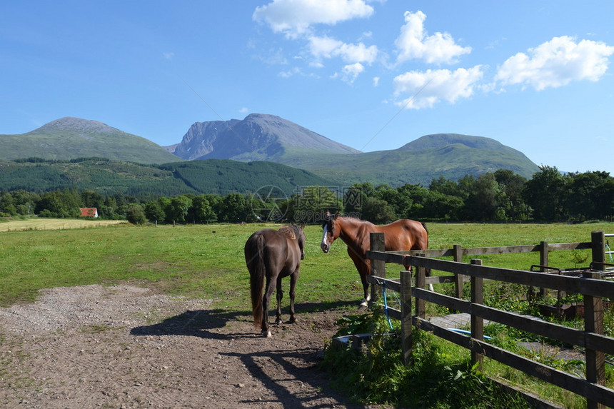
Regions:
<svg viewBox="0 0 614 409"><path fill-rule="evenodd" d="M528 55L518 53L507 59L498 69L495 81L500 84L522 84L540 91L557 88L571 81L598 81L608 69L608 56L614 47L582 40L575 43L570 36L554 37Z"/></svg>

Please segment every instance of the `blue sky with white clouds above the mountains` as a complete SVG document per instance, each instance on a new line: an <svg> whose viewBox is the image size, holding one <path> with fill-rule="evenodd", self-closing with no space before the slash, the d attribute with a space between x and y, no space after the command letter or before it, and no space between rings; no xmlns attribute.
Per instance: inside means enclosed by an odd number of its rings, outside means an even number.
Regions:
<svg viewBox="0 0 614 409"><path fill-rule="evenodd" d="M614 1L3 1L0 133L161 146L270 113L361 151L486 136L614 176Z"/></svg>

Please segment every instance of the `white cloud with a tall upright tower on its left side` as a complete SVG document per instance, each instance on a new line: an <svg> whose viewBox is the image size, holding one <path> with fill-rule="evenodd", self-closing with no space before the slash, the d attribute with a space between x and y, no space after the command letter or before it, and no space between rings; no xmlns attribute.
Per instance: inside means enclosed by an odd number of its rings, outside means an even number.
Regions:
<svg viewBox="0 0 614 409"><path fill-rule="evenodd" d="M428 36L424 29L426 14L422 11L405 12L406 24L401 27L401 34L395 41L399 51L397 62L409 59L422 59L428 64L453 64L458 57L469 54L471 47L456 44L448 33L435 33Z"/></svg>

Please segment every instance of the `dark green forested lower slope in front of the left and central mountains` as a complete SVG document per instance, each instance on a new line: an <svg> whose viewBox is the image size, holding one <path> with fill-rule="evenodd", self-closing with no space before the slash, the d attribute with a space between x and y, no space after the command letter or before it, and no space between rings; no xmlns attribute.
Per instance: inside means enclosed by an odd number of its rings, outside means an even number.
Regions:
<svg viewBox="0 0 614 409"><path fill-rule="evenodd" d="M271 162L230 160L143 165L84 158L74 161L0 161L0 191L90 189L104 195L176 196L183 193L249 193L277 186L286 195L303 186L331 182L301 169Z"/></svg>

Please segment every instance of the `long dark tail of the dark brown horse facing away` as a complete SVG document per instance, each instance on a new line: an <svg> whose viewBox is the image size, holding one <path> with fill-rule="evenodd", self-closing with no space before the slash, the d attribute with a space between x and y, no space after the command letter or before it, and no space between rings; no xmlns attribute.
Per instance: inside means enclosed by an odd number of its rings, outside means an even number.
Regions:
<svg viewBox="0 0 614 409"><path fill-rule="evenodd" d="M245 248L246 263L249 270L249 285L251 287L251 312L253 325L260 328L262 325L262 290L264 288L264 238L258 234L250 238Z"/></svg>

